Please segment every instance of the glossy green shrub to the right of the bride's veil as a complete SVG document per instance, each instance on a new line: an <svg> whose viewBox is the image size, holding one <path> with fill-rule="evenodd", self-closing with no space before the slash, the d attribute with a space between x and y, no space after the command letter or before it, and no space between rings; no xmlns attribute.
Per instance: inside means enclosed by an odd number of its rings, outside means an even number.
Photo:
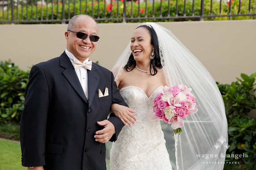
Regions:
<svg viewBox="0 0 256 170"><path fill-rule="evenodd" d="M218 87L223 97L228 120L228 147L226 161L240 162L252 169L256 168L256 122L248 113L256 109L256 72L251 76L241 74L231 85ZM255 111L255 110L254 110ZM248 155L237 158L233 155ZM229 155L229 157L228 157Z"/></svg>

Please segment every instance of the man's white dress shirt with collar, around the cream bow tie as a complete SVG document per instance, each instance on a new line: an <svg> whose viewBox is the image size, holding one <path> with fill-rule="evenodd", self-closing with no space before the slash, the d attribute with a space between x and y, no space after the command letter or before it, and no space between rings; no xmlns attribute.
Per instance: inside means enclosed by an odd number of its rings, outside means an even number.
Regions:
<svg viewBox="0 0 256 170"><path fill-rule="evenodd" d="M77 60L77 58L72 53L70 53L67 49L65 50L65 52L69 58L72 58L74 60L74 61L70 60L74 67L74 62ZM88 61L89 61L89 58L87 58L83 63L86 63ZM80 67L78 69L75 69L75 71L76 71L76 75L82 85L82 88L83 88L84 94L85 94L86 89L87 89L87 81L88 81L87 69L84 67Z"/></svg>

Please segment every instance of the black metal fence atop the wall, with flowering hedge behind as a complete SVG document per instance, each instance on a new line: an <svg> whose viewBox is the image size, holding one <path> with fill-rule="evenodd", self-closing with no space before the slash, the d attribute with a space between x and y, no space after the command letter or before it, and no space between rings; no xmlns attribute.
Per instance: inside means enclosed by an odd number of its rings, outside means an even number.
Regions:
<svg viewBox="0 0 256 170"><path fill-rule="evenodd" d="M103 23L256 19L256 0L0 0L1 24L68 23L77 14Z"/></svg>

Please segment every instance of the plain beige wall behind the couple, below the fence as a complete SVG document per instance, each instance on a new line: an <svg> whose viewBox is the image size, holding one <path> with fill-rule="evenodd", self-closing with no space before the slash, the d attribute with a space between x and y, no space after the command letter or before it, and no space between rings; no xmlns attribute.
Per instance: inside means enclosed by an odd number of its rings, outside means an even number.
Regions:
<svg viewBox="0 0 256 170"><path fill-rule="evenodd" d="M230 84L256 71L256 20L161 22L204 64L215 81ZM112 69L138 23L99 24L100 41L90 56ZM0 60L22 70L58 57L66 48L67 25L0 25Z"/></svg>

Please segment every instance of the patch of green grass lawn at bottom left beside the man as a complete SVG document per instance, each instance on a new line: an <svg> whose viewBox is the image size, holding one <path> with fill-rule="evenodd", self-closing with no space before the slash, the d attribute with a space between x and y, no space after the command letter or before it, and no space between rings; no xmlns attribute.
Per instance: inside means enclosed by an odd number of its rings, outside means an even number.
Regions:
<svg viewBox="0 0 256 170"><path fill-rule="evenodd" d="M0 139L0 170L24 170L19 142Z"/></svg>

